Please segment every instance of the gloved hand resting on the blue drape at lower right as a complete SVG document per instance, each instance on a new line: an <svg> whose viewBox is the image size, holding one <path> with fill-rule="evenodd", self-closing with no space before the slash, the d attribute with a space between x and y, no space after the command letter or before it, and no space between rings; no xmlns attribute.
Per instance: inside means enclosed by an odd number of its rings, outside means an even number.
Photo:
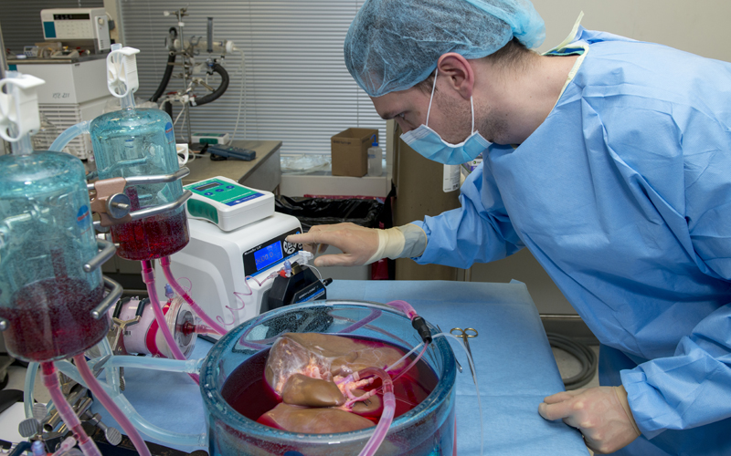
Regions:
<svg viewBox="0 0 731 456"><path fill-rule="evenodd" d="M640 436L624 387L563 391L544 399L538 413L580 430L588 448L596 453L620 450Z"/></svg>

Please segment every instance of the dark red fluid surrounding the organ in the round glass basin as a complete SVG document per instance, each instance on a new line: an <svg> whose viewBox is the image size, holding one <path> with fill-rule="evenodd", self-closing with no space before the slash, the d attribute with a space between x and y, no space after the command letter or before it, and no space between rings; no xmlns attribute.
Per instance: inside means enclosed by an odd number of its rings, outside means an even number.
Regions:
<svg viewBox="0 0 731 456"><path fill-rule="evenodd" d="M401 348L382 341L362 337L354 338L373 345L373 347L390 346L397 348L402 354L406 353ZM258 420L261 415L273 409L280 402L264 379L264 367L266 366L268 356L269 350L262 350L260 353L249 358L231 372L226 383L224 383L223 389L221 389L223 399L233 409L238 411L238 413L249 418L249 420ZM415 358L414 355L411 358ZM408 365L408 363L405 365ZM394 382L394 394L396 395L395 418L418 406L437 387L438 381L439 378L437 378L437 375L424 361L419 361L416 366L398 378ZM365 389L378 388L380 386L381 381L378 379L371 387ZM382 397L382 394L378 393L378 396ZM378 422L377 417L365 418L374 421L374 423Z"/></svg>

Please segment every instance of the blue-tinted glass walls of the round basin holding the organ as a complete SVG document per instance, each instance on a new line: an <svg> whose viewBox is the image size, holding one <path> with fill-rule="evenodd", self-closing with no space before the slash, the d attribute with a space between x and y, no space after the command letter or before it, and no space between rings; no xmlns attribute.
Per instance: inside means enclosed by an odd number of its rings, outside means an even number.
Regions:
<svg viewBox="0 0 731 456"><path fill-rule="evenodd" d="M260 381L261 376L254 371L251 361L261 358L260 351L270 347L277 336L287 332L339 333L365 318L368 318L367 324L348 331L347 335L377 339L407 351L420 342L408 317L392 307L358 301L317 301L281 307L249 320L222 337L208 353L201 368L200 389L207 414L209 453L212 456L358 454L373 428L336 434L277 430L246 418L229 401L231 389L248 387L244 384L247 380L241 382L241 378ZM433 327L430 329L432 333L438 332ZM393 421L377 452L379 455L453 454L454 355L447 341L438 337L421 359L438 378L437 385L418 406ZM246 370L250 365L250 375L244 372L242 376L240 368ZM237 384L227 384L229 379Z"/></svg>

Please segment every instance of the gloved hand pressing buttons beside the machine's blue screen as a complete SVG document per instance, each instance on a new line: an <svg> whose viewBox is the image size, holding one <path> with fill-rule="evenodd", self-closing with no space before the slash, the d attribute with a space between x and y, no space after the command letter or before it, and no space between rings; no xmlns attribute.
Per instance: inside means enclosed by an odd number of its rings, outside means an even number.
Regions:
<svg viewBox="0 0 731 456"><path fill-rule="evenodd" d="M355 223L313 226L308 233L291 234L287 242L302 244L313 254L322 254L328 245L343 251L342 254L328 254L314 259L315 266L360 266L365 264L378 250L378 233Z"/></svg>

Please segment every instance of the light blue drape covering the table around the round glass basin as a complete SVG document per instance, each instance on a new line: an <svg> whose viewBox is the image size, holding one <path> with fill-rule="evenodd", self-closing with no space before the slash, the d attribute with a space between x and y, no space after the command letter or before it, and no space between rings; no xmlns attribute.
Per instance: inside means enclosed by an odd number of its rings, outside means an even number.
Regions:
<svg viewBox="0 0 731 456"><path fill-rule="evenodd" d="M471 338L470 347L482 399L484 454L588 454L577 430L538 415L543 398L564 388L540 316L524 284L335 281L327 289L328 299L380 303L403 299L445 332L455 326L477 329L479 336ZM463 367L456 385L457 450L460 456L477 455L480 415L476 393L467 359L455 343L452 346ZM199 340L192 358L205 356L210 347ZM186 375L129 368L125 378L125 396L147 420L177 432L200 433L205 429L199 389ZM104 422L113 423L101 406L95 403L94 409L101 412Z"/></svg>

